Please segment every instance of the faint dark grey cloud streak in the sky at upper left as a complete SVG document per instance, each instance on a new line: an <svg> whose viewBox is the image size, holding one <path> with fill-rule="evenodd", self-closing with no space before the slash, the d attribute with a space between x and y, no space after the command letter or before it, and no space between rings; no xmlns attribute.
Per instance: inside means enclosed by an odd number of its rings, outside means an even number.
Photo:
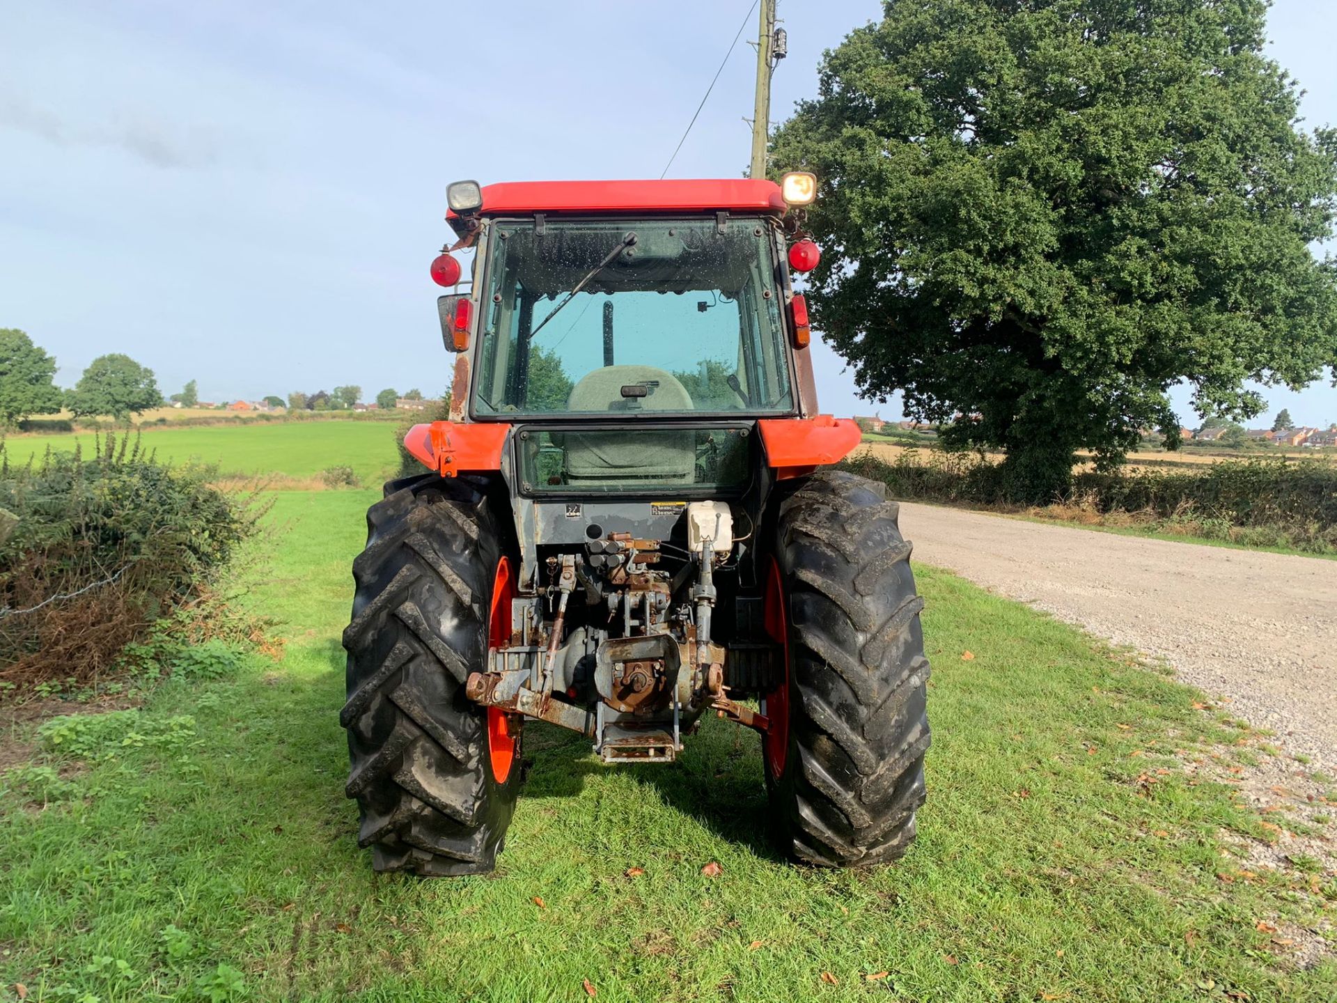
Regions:
<svg viewBox="0 0 1337 1003"><path fill-rule="evenodd" d="M63 147L111 147L160 169L202 167L214 160L207 138L182 135L167 123L143 118L110 116L99 123L62 119L17 95L0 94L0 127L45 139Z"/></svg>

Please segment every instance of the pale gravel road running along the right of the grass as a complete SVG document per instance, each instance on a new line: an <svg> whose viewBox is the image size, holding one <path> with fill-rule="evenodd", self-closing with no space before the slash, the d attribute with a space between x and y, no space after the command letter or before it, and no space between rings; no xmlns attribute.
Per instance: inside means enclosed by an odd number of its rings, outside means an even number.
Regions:
<svg viewBox="0 0 1337 1003"><path fill-rule="evenodd" d="M1161 655L1337 770L1337 560L901 504L915 560Z"/></svg>

